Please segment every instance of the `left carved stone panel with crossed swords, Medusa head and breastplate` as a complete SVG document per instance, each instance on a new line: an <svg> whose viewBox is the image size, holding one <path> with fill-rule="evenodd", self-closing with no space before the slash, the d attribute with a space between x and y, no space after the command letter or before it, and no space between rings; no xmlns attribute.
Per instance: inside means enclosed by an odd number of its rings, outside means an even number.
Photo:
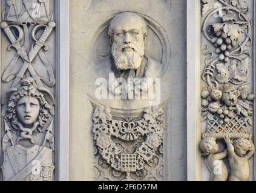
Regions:
<svg viewBox="0 0 256 193"><path fill-rule="evenodd" d="M1 3L2 180L54 180L54 2Z"/></svg>

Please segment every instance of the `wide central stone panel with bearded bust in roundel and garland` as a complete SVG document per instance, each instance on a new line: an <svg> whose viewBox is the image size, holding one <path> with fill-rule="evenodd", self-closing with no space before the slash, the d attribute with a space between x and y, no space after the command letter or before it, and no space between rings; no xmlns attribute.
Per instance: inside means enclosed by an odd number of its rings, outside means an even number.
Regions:
<svg viewBox="0 0 256 193"><path fill-rule="evenodd" d="M70 1L70 179L186 179L185 10Z"/></svg>

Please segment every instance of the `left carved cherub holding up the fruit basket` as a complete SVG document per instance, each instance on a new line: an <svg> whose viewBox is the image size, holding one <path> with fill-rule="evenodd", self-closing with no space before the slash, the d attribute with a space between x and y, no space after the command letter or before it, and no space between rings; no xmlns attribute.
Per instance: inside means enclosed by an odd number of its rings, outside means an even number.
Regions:
<svg viewBox="0 0 256 193"><path fill-rule="evenodd" d="M200 148L203 156L208 156L206 161L208 169L211 172L211 181L228 180L228 169L223 162L223 159L228 155L228 151L225 150L218 153L219 149L215 138L204 138L200 142Z"/></svg>

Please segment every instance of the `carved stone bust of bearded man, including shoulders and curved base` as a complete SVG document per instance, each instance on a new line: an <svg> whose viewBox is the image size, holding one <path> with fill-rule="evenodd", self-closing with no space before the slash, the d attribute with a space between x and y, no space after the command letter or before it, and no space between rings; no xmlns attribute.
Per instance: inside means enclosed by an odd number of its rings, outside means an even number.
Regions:
<svg viewBox="0 0 256 193"><path fill-rule="evenodd" d="M98 103L120 110L137 110L150 106L149 97L142 98L140 95L143 92L148 93L148 90L156 84L157 78L161 78L163 65L146 55L146 36L146 21L138 14L123 12L113 17L108 30L111 55L102 62L92 65L90 70L94 81L97 82L99 78L105 80L103 86L108 95L113 95L113 98L107 97L103 100L100 98L100 101L96 99ZM148 81L149 79L151 81ZM127 97L126 94L123 97L122 91L125 90L125 93L128 93L130 90L127 88L128 86L125 89L120 88L120 84L123 85L123 81L126 81L128 85L130 84L129 80L134 81L131 84L141 86L140 92L136 95L134 91L132 97L128 94ZM160 83L158 87L160 87ZM90 98L97 98L95 90L97 89L88 93ZM114 98L116 95L122 95L120 97L122 100L120 98L116 100Z"/></svg>

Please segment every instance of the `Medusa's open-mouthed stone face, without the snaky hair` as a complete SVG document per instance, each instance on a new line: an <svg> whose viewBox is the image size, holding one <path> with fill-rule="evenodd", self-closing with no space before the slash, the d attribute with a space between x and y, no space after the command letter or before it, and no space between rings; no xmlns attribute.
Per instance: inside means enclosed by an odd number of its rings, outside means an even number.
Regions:
<svg viewBox="0 0 256 193"><path fill-rule="evenodd" d="M22 97L16 106L16 112L19 121L24 125L31 125L36 122L39 116L40 104L37 98L33 96Z"/></svg>

